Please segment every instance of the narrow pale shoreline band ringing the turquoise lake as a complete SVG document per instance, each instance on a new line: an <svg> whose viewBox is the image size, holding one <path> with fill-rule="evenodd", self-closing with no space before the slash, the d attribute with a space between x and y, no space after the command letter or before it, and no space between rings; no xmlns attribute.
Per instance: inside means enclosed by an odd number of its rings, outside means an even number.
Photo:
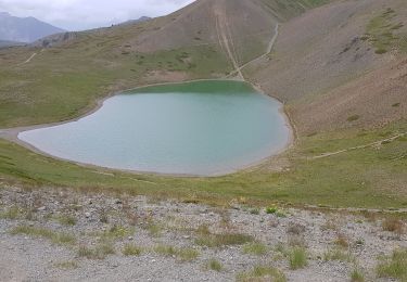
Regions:
<svg viewBox="0 0 407 282"><path fill-rule="evenodd" d="M115 95L124 94L124 93L126 93L128 91L131 91L131 90L138 90L138 89L148 88L148 87L155 87L155 86L181 85L181 84L190 84L190 82L199 82L199 81L241 81L241 82L250 85L258 94L267 97L268 99L276 100L279 104L281 104L281 106L279 107L278 111L279 111L280 115L282 115L282 117L284 118L284 127L288 129L288 141L285 142L283 148L281 148L280 150L274 151L271 154L269 154L269 155L267 155L267 156L265 156L265 157L263 157L263 158L260 158L256 162L252 162L247 165L239 166L239 168L233 168L233 169L230 169L230 170L228 169L228 170L221 170L219 172L203 174L203 175L164 174L164 172L154 172L154 171L133 170L133 169L117 169L117 168L103 167L103 166L98 166L98 165L87 164L87 163L81 163L81 162L75 162L75 161L72 161L72 159L66 159L66 158L63 158L63 157L51 155L51 154L49 154L49 153L47 153L42 150L39 150L35 145L31 145L30 143L25 142L25 141L23 141L18 138L18 134L24 132L24 131L55 127L55 126L61 126L61 125L65 125L65 124L68 124L68 123L78 121L78 120L98 112L103 106L103 104L106 100L109 100L109 99L111 99ZM91 168L91 169L97 169L97 170L101 170L101 171L111 171L111 172L116 171L116 172L129 172L129 174L136 174L136 175L153 175L153 176L182 177L182 178L211 178L211 177L221 177L221 176L228 176L228 175L247 171L250 169L253 169L255 167L260 166L265 162L270 161L270 159L275 158L276 156L280 155L281 153L285 152L288 149L290 149L294 144L295 139L296 139L295 130L292 127L292 121L291 121L291 118L290 118L290 116L288 115L288 113L284 108L284 104L279 99L266 94L263 91L263 89L260 89L260 87L255 86L255 85L253 85L249 81L245 81L245 80L240 80L240 79L238 79L238 80L237 79L194 79L194 80L186 80L186 81L179 81L179 82L150 84L150 85L140 86L140 87L136 87L136 88L129 88L129 89L125 89L125 90L122 90L122 91L111 93L107 97L104 97L102 99L97 100L96 106L91 111L89 111L89 112L87 112L87 113L85 113L85 114L82 114L78 117L67 119L67 120L63 120L63 121L56 121L56 123L48 123L48 124L26 126L26 127L15 127L15 128L0 129L0 138L3 138L8 141L16 143L16 144L18 144L23 148L26 148L26 149L28 149L28 150L37 153L37 154L46 156L46 157L67 162L67 163L74 164L74 165L85 167L85 168Z"/></svg>

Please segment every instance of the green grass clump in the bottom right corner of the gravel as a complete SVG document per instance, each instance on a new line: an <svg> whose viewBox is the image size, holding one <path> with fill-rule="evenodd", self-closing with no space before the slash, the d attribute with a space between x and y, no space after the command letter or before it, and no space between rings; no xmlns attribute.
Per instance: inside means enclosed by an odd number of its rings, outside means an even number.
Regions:
<svg viewBox="0 0 407 282"><path fill-rule="evenodd" d="M407 249L396 249L392 256L384 257L377 266L380 278L393 278L407 281Z"/></svg>

